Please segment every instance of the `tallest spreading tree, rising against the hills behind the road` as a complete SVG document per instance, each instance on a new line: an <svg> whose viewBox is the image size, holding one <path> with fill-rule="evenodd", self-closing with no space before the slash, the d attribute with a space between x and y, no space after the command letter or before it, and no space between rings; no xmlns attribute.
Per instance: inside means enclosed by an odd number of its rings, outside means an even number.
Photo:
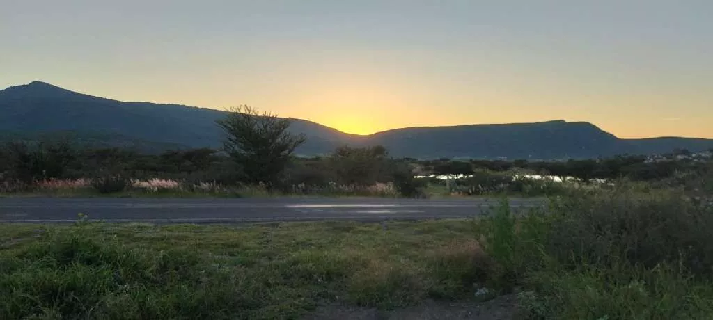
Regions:
<svg viewBox="0 0 713 320"><path fill-rule="evenodd" d="M225 130L223 150L242 171L247 182L275 187L294 150L307 139L287 131L289 120L240 105L216 121Z"/></svg>

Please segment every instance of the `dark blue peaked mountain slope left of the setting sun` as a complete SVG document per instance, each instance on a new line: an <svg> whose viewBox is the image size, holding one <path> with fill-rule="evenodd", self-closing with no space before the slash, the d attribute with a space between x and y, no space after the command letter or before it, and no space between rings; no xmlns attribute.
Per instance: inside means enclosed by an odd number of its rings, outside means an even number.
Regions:
<svg viewBox="0 0 713 320"><path fill-rule="evenodd" d="M72 131L76 135L112 134L169 143L187 148L220 146L222 132L215 120L225 112L186 105L122 102L88 96L48 83L33 82L0 91L0 130L37 133ZM295 119L292 130L307 134L300 152L334 149L344 134L318 123Z"/></svg>

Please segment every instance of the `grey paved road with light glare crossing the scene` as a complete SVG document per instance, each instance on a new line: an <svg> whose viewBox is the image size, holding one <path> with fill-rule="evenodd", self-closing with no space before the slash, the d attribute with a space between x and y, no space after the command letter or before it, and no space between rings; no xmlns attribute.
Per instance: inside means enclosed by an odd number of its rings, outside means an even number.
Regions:
<svg viewBox="0 0 713 320"><path fill-rule="evenodd" d="M0 198L0 222L73 222L78 213L107 222L221 223L293 220L415 220L473 217L498 200L374 198L130 199ZM537 207L538 199L511 199Z"/></svg>

